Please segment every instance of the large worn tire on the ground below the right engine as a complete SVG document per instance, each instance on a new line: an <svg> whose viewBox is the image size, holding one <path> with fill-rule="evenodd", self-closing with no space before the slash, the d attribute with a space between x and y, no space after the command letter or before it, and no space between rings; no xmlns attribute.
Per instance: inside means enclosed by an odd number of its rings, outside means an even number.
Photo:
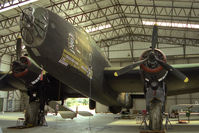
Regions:
<svg viewBox="0 0 199 133"><path fill-rule="evenodd" d="M162 129L162 103L157 99L152 100L150 104L149 128L151 130Z"/></svg>

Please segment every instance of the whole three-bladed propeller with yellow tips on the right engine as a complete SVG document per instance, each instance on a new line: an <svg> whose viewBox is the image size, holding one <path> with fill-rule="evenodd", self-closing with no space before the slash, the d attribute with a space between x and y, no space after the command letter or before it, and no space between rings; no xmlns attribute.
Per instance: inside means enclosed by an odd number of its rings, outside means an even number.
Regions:
<svg viewBox="0 0 199 133"><path fill-rule="evenodd" d="M152 63L156 62L157 64L161 65L164 69L170 71L174 76L183 80L185 83L189 82L189 79L188 79L188 77L186 77L186 75L184 75L182 72L173 68L172 66L170 66L166 62L160 60L157 57L157 55L155 54L155 48L156 48L157 42L158 42L158 27L157 27L157 25L154 25L153 33L152 33L151 51L150 51L148 57L116 71L114 73L114 76L117 77L122 74L125 74L125 73L129 72L130 70L132 70L133 68L135 68L141 64L144 64L145 62L152 62Z"/></svg>

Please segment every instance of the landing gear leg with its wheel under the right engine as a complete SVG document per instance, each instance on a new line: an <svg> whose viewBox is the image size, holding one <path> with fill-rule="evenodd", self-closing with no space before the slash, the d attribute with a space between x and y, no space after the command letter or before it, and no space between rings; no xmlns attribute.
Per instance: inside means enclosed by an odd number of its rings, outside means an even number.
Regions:
<svg viewBox="0 0 199 133"><path fill-rule="evenodd" d="M165 111L166 84L145 83L146 108L149 113L149 129L162 130L163 112Z"/></svg>

